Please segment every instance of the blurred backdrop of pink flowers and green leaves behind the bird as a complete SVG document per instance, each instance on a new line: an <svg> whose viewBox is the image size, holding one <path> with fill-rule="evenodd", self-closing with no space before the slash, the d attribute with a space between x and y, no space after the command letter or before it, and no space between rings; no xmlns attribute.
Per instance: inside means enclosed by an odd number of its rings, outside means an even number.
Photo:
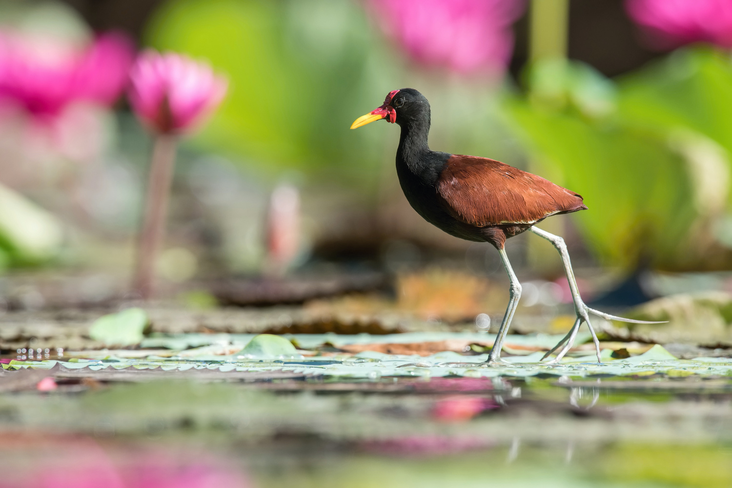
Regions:
<svg viewBox="0 0 732 488"><path fill-rule="evenodd" d="M500 314L495 250L441 233L403 197L398 130L348 129L406 86L430 100L433 149L500 159L584 196L589 211L542 226L567 239L587 299L621 307L732 289L731 14L684 5L4 1L6 305L129 292L152 138L123 96L124 72L147 47L205 59L229 83L178 151L156 265L163 297L302 302L340 277L340 291L386 282L427 318ZM507 249L526 310L569 302L548 244L519 236ZM429 298L405 304L410 294Z"/></svg>

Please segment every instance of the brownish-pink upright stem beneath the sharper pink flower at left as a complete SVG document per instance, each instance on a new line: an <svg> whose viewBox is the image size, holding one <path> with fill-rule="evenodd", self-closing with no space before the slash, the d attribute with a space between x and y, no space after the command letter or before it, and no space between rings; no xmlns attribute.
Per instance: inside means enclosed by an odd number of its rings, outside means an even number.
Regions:
<svg viewBox="0 0 732 488"><path fill-rule="evenodd" d="M154 294L155 261L165 237L165 217L176 159L176 138L158 135L152 151L133 287L143 300Z"/></svg>

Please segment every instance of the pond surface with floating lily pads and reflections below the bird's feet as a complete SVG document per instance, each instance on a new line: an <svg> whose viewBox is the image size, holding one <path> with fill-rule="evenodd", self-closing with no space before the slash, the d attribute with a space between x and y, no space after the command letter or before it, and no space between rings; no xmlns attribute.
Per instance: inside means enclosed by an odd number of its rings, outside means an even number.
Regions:
<svg viewBox="0 0 732 488"><path fill-rule="evenodd" d="M732 486L730 359L195 345L5 361L0 487Z"/></svg>

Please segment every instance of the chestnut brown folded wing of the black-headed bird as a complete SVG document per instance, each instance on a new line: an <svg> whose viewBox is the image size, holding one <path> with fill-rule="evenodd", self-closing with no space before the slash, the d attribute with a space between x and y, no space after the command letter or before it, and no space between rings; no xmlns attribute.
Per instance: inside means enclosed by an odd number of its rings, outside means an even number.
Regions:
<svg viewBox="0 0 732 488"><path fill-rule="evenodd" d="M453 155L436 188L452 217L478 227L533 224L587 209L577 193L485 157Z"/></svg>

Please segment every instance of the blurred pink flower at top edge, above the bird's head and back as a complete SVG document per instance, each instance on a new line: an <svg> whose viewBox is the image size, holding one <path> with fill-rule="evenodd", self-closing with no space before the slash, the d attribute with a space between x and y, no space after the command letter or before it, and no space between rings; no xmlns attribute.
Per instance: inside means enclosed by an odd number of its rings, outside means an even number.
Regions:
<svg viewBox="0 0 732 488"><path fill-rule="evenodd" d="M384 32L410 56L462 73L500 73L523 0L370 0Z"/></svg>

